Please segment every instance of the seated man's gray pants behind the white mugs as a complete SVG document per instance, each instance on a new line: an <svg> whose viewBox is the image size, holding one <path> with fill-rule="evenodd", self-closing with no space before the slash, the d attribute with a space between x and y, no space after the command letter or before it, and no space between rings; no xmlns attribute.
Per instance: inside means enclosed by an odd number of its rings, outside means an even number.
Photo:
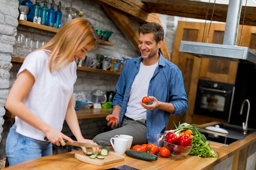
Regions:
<svg viewBox="0 0 256 170"><path fill-rule="evenodd" d="M115 135L130 135L133 137L132 145L141 145L148 143L147 131L146 120L123 119L120 128L100 133L92 140L100 146L111 146L111 137L115 137Z"/></svg>

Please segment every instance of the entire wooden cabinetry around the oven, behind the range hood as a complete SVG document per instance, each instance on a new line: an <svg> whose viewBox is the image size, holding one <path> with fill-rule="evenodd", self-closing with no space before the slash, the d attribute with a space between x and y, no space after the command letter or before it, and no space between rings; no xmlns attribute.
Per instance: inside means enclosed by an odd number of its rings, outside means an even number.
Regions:
<svg viewBox="0 0 256 170"><path fill-rule="evenodd" d="M181 121L192 124L193 119L195 119L199 123L198 117L194 116L198 79L235 83L238 63L199 58L179 52L181 40L223 44L224 32L225 24L178 23L171 61L182 71L189 105L184 115L179 117L170 116L167 128L173 128L173 121L175 123ZM200 124L209 121L209 119L201 119Z"/></svg>

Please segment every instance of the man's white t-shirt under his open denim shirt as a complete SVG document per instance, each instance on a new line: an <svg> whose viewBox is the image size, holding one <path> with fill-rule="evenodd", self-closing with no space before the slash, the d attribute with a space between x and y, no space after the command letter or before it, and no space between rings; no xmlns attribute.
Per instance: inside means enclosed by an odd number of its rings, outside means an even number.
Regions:
<svg viewBox="0 0 256 170"><path fill-rule="evenodd" d="M136 75L132 89L130 91L129 101L125 115L134 120L146 119L146 109L141 106L141 99L148 96L148 86L158 63L145 66L140 63L139 73Z"/></svg>

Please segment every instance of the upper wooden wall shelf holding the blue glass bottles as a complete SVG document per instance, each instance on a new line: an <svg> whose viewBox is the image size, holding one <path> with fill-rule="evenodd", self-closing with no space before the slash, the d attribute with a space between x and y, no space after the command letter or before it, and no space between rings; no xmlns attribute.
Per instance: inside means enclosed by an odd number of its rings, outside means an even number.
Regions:
<svg viewBox="0 0 256 170"><path fill-rule="evenodd" d="M25 20L19 20L19 26L24 26L24 27L27 27L27 28L33 28L33 29L37 29L37 30L40 30L40 31L46 31L46 32L49 32L49 33L57 33L59 31L59 29L53 28L51 26L36 24L34 22L25 21ZM100 45L114 46L114 44L112 42L103 41L103 40L99 40L98 42L99 42Z"/></svg>

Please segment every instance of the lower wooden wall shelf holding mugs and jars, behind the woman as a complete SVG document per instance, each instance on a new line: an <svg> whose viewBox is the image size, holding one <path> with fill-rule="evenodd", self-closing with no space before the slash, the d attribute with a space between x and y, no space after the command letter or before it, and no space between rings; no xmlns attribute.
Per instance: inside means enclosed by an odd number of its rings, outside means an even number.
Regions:
<svg viewBox="0 0 256 170"><path fill-rule="evenodd" d="M23 63L25 58L20 58L20 57L11 57L11 62L16 62L16 63ZM90 67L79 67L77 66L77 70L80 71L91 71L91 72L97 72L97 73L106 73L106 74L114 74L114 75L120 75L120 71L109 71L109 70L102 70L99 68L90 68Z"/></svg>

